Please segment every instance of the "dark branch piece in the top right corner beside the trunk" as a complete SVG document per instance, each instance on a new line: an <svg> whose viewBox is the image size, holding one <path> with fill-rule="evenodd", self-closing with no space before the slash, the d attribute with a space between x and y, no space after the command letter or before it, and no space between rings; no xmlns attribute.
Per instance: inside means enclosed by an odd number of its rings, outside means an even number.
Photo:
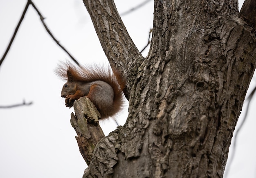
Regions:
<svg viewBox="0 0 256 178"><path fill-rule="evenodd" d="M244 20L249 26L254 29L256 33L256 1L255 0L245 0L240 13L239 18Z"/></svg>

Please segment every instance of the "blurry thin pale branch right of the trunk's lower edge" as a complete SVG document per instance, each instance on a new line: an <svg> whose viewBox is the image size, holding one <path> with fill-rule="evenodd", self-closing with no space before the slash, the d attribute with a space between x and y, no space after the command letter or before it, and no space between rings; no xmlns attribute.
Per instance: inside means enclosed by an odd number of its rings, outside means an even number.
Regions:
<svg viewBox="0 0 256 178"><path fill-rule="evenodd" d="M254 89L252 90L252 92L250 93L250 95L248 96L248 98L246 100L248 100L248 104L246 106L246 110L245 110L245 116L244 116L244 119L242 120L240 126L236 129L236 134L234 136L234 141L233 141L233 151L232 151L232 154L229 158L229 164L227 165L226 167L226 170L225 170L225 177L227 177L228 173L229 173L229 169L231 167L231 164L233 162L233 159L234 159L234 156L235 156L235 153L236 153L236 142L237 142L237 136L238 134L240 133L239 131L242 129L244 123L245 123L245 120L247 119L247 115L248 115L248 111L249 111L249 106L250 106L250 102L252 101L252 97L254 96L254 93L256 91L256 87L254 87Z"/></svg>

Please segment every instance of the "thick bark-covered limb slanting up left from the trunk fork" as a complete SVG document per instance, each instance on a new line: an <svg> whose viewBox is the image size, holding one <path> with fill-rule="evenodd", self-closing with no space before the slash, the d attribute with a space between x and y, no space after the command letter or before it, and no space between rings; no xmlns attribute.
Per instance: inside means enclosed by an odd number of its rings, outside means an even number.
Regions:
<svg viewBox="0 0 256 178"><path fill-rule="evenodd" d="M83 0L83 2L112 69L117 69L123 80L127 81L126 91L129 93L130 85L135 80L135 73L144 57L126 31L113 0Z"/></svg>

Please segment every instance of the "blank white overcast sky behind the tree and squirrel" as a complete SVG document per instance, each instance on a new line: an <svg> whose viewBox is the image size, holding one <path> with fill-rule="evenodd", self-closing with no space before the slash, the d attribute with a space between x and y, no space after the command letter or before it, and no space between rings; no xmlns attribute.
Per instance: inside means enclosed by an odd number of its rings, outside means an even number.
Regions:
<svg viewBox="0 0 256 178"><path fill-rule="evenodd" d="M116 0L115 3L121 13L143 1ZM26 2L0 0L1 57ZM46 18L45 22L55 37L79 62L107 63L82 0L33 2ZM153 24L153 0L122 17L122 20L141 50L147 43ZM83 175L87 166L74 138L76 133L70 125L72 109L65 107L60 96L63 81L53 72L57 63L66 59L69 57L47 34L36 11L29 7L11 50L0 67L0 105L21 103L23 99L32 101L33 105L0 109L1 178L80 178ZM254 80L252 86L255 85ZM250 117L238 137L236 158L229 178L256 177L255 102L254 99ZM123 119L118 120L119 123L124 124L126 114L127 111ZM101 125L106 135L116 128L111 120Z"/></svg>

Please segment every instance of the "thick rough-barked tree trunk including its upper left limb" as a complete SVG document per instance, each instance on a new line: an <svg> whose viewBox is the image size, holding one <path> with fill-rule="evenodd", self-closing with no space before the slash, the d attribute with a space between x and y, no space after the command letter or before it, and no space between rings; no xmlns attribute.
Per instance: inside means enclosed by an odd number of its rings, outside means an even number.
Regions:
<svg viewBox="0 0 256 178"><path fill-rule="evenodd" d="M114 2L84 3L127 82L129 115L95 147L83 177L222 177L256 66L255 22L243 21L255 3L241 20L237 0L155 0L146 58Z"/></svg>

